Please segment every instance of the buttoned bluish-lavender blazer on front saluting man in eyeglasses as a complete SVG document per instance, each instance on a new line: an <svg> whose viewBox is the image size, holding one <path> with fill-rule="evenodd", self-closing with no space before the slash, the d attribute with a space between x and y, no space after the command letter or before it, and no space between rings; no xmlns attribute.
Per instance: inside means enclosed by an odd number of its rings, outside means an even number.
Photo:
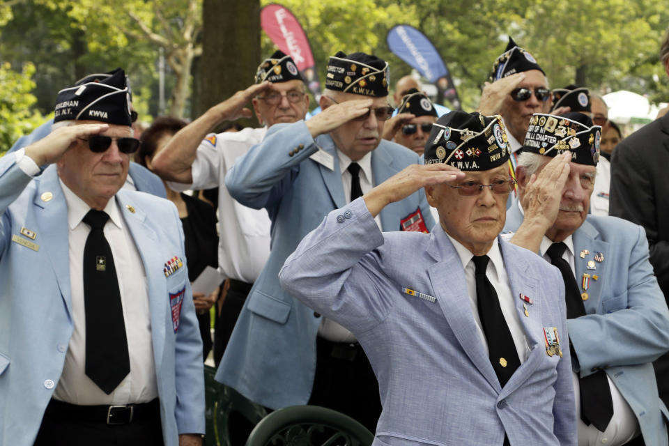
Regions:
<svg viewBox="0 0 669 446"><path fill-rule="evenodd" d="M334 210L282 269L282 286L351 330L376 372L374 446L576 445L564 284L556 268L498 240L526 359L504 387L475 323L445 232L381 233L364 200ZM410 289L415 293L408 293ZM525 316L520 294L532 298ZM563 356L546 353L557 328Z"/></svg>

